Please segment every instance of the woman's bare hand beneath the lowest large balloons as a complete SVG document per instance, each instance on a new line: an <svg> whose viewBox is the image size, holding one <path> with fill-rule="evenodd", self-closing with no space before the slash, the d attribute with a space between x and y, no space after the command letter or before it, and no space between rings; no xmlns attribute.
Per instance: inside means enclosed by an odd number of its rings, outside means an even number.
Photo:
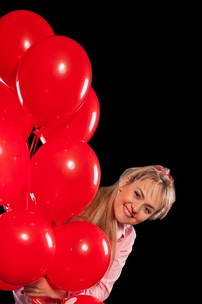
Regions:
<svg viewBox="0 0 202 304"><path fill-rule="evenodd" d="M24 286L24 292L28 297L36 298L52 298L63 300L67 297L66 291L62 289L56 289L53 285L48 283L48 280L45 277L42 277L40 280Z"/></svg>

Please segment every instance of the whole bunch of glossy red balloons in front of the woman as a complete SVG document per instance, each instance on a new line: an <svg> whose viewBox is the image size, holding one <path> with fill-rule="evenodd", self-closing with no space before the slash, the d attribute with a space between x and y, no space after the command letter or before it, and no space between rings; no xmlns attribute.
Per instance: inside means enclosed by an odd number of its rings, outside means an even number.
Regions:
<svg viewBox="0 0 202 304"><path fill-rule="evenodd" d="M100 115L91 83L78 42L55 35L31 11L0 18L0 205L8 211L0 216L0 289L47 274L57 287L80 291L109 267L109 240L99 227L51 226L78 215L99 187L99 161L88 145ZM42 142L33 156L32 131Z"/></svg>

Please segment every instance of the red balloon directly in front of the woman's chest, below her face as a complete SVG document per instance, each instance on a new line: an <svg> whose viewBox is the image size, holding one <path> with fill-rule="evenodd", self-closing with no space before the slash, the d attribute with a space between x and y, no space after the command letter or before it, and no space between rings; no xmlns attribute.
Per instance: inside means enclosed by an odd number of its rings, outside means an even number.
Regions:
<svg viewBox="0 0 202 304"><path fill-rule="evenodd" d="M110 262L109 240L98 226L83 220L54 230L56 253L47 270L49 280L63 290L80 291L98 283Z"/></svg>

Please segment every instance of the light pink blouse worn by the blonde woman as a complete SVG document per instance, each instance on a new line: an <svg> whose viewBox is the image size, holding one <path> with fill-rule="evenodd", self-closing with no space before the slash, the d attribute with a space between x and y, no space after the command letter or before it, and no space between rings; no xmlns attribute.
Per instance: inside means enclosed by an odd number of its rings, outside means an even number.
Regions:
<svg viewBox="0 0 202 304"><path fill-rule="evenodd" d="M135 238L136 232L133 226L122 224L118 229L115 259L109 271L107 271L103 278L93 287L78 292L68 291L67 298L83 294L93 296L101 301L106 300L109 297L114 282L121 274L129 253L132 251ZM30 304L28 302L29 298L26 295L21 294L21 289L23 288L13 291L16 304Z"/></svg>

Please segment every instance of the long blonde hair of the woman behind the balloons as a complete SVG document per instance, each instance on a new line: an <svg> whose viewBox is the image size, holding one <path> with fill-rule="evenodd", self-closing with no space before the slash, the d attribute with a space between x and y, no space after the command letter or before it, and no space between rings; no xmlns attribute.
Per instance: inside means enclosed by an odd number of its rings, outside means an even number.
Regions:
<svg viewBox="0 0 202 304"><path fill-rule="evenodd" d="M114 215L113 202L116 195L120 192L119 186L127 177L129 177L130 183L135 180L147 179L148 181L153 181L153 188L159 185L162 198L161 208L149 220L163 219L175 202L174 183L172 178L167 175L169 173L170 169L159 165L126 169L120 176L119 181L114 185L100 187L92 202L80 214L81 216L85 216L85 220L92 222L105 232L111 246L111 263L114 260L116 252L118 227Z"/></svg>

